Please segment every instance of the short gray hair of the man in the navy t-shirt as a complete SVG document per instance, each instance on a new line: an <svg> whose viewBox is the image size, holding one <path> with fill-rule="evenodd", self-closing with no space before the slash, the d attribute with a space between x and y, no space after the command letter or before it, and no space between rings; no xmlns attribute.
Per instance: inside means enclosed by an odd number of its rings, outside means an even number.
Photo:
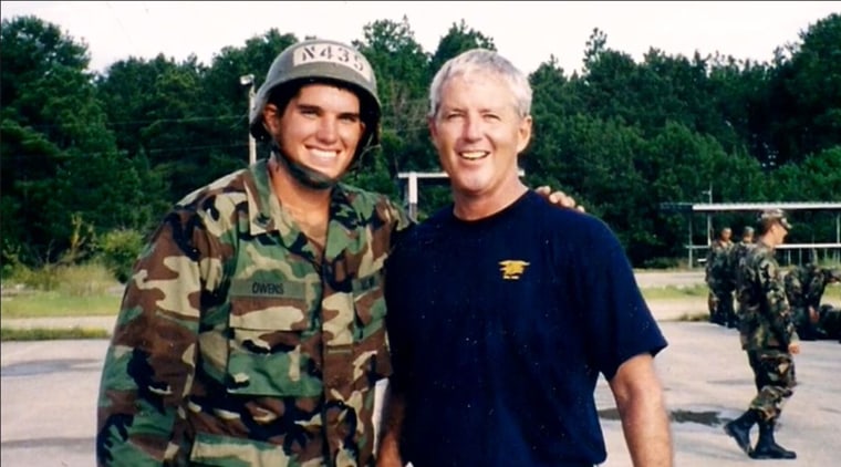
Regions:
<svg viewBox="0 0 841 467"><path fill-rule="evenodd" d="M526 74L492 50L471 49L449 59L435 74L429 86L429 117L438 113L444 85L450 79L468 73L495 74L501 77L515 96L517 113L521 117L531 114L531 85Z"/></svg>

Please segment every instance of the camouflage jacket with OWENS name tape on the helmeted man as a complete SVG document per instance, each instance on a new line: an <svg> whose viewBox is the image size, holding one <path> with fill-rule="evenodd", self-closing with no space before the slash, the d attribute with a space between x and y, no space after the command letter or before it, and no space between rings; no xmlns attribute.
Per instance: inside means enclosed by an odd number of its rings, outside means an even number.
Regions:
<svg viewBox="0 0 841 467"><path fill-rule="evenodd" d="M346 185L330 209L321 258L262 160L165 217L106 354L100 466L373 465L383 262L409 221Z"/></svg>

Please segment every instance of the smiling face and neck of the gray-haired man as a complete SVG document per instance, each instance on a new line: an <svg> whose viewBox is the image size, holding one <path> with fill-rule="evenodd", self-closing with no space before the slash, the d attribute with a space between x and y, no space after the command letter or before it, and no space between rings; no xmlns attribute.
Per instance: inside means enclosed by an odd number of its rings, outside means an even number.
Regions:
<svg viewBox="0 0 841 467"><path fill-rule="evenodd" d="M516 97L500 76L451 76L442 87L429 131L456 204L478 197L507 203L522 193L517 158L531 137L531 117L517 112Z"/></svg>

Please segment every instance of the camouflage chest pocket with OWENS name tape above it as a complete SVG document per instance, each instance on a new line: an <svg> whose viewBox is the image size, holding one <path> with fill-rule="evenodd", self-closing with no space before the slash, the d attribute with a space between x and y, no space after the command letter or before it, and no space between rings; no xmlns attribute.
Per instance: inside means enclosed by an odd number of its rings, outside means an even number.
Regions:
<svg viewBox="0 0 841 467"><path fill-rule="evenodd" d="M322 383L315 331L319 293L307 282L232 284L227 387L255 396L314 396Z"/></svg>

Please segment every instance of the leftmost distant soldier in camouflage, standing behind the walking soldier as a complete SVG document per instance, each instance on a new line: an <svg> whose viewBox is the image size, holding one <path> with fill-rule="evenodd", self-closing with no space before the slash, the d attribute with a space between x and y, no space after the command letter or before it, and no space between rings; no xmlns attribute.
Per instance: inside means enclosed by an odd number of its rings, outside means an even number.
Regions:
<svg viewBox="0 0 841 467"><path fill-rule="evenodd" d="M709 287L707 307L709 309L709 322L728 328L736 326L736 314L733 310L733 271L730 269L730 250L733 231L725 227L713 241L707 251L706 282Z"/></svg>

